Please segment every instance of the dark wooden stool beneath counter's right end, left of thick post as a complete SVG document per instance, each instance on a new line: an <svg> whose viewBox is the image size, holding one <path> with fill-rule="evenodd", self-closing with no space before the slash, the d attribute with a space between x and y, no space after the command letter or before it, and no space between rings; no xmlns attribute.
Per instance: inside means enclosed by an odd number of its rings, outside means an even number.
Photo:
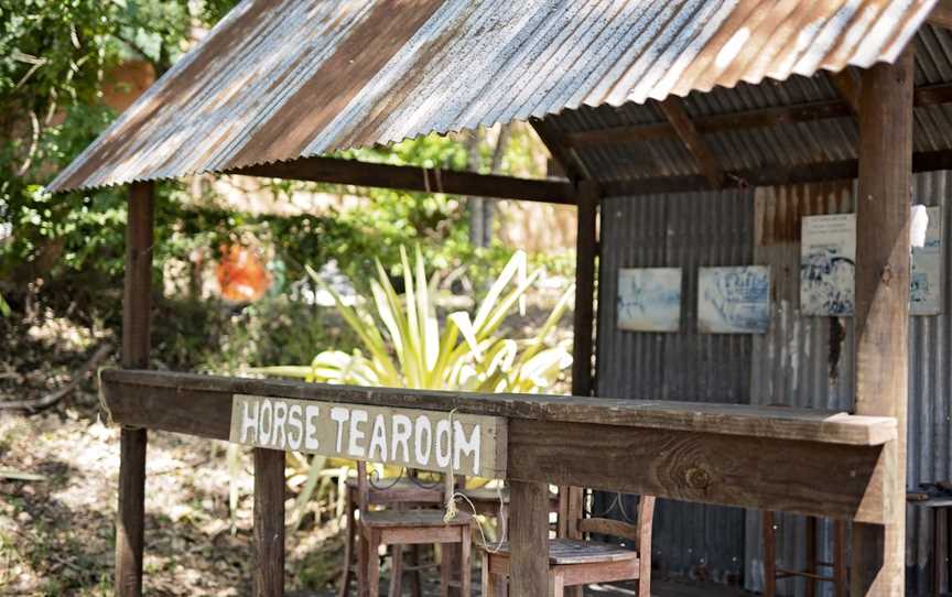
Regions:
<svg viewBox="0 0 952 597"><path fill-rule="evenodd" d="M833 583L834 595L846 597L850 584L846 578L846 521L833 521L833 562L820 562L816 555L815 517L807 517L807 567L791 571L777 567L777 530L774 512L764 512L764 597L777 595L777 580L783 578L807 578L807 597L816 595L816 583ZM832 576L818 574L816 568L833 569Z"/></svg>

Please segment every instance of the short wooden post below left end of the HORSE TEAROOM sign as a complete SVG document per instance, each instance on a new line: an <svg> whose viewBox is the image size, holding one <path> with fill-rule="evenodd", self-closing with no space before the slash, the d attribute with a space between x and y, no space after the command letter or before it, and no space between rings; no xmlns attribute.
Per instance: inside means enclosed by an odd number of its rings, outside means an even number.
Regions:
<svg viewBox="0 0 952 597"><path fill-rule="evenodd" d="M284 453L255 448L255 597L284 595Z"/></svg>

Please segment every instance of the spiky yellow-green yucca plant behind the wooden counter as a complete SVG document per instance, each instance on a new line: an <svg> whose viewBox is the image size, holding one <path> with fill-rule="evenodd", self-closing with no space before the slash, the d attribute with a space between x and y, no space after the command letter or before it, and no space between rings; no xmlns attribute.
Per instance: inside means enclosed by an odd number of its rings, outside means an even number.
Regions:
<svg viewBox="0 0 952 597"><path fill-rule="evenodd" d="M542 273L541 270L527 273L524 252L512 256L475 315L466 311L450 313L442 330L433 301L439 275L426 278L419 247L412 268L403 248L400 259L405 295L401 297L397 293L383 265L377 261L377 279L370 281L371 297L358 300L354 306L346 305L309 267L307 272L315 283L334 297L338 313L357 334L361 348L351 354L325 350L310 365L263 367L255 371L353 386L538 393L572 365L567 345L550 346L547 339L565 314L574 286L566 289L533 337L517 340L500 333L505 319L522 304L527 291ZM372 313L365 305L372 305ZM305 460L298 458L298 462ZM291 512L295 528L324 463L324 458L314 457L310 464L307 481ZM294 468L299 477L304 474L300 467Z"/></svg>

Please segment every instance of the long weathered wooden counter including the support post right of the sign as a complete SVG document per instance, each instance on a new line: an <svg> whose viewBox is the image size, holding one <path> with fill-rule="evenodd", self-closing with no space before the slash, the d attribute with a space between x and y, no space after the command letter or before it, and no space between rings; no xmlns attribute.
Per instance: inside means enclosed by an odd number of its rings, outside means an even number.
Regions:
<svg viewBox="0 0 952 597"><path fill-rule="evenodd" d="M874 524L886 520L890 508L883 487L889 463L881 458L883 446L897 437L896 421L889 417L693 402L370 389L145 370L109 370L101 379L116 423L226 441L235 394L506 417L513 566L524 566L530 579L519 583L521 593L513 587L516 595L536 594L524 588L536 586L531 582L538 578L536 563L545 562L538 542L544 541L548 522L543 524L541 517L548 507L528 503L533 484ZM520 503L523 496L526 503Z"/></svg>

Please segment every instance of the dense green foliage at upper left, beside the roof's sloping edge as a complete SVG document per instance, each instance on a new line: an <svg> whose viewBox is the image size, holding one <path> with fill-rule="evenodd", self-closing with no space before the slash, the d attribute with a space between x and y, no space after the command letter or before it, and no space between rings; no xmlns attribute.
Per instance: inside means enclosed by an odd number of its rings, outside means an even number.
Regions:
<svg viewBox="0 0 952 597"><path fill-rule="evenodd" d="M107 75L128 59L161 74L236 0L0 0L0 279L120 271L122 189L51 197L42 186L116 117ZM160 185L162 198L175 184ZM160 218L156 228L165 225ZM24 264L47 261L46 267Z"/></svg>

